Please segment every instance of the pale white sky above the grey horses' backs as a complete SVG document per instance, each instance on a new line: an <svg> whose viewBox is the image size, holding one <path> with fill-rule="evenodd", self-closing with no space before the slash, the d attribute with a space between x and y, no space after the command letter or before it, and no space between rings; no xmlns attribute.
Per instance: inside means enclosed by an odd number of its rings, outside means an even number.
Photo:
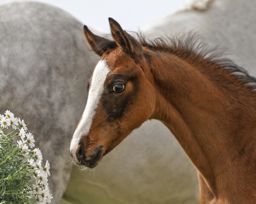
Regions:
<svg viewBox="0 0 256 204"><path fill-rule="evenodd" d="M0 3L11 0L0 0ZM17 1L17 0L16 0ZM21 1L21 0L20 0ZM108 17L117 20L122 28L137 31L161 17L183 8L188 0L37 0L57 6L72 14L81 23L101 32L110 32ZM135 6L136 5L136 6ZM96 9L95 9L96 8ZM95 12L97 11L97 12Z"/></svg>

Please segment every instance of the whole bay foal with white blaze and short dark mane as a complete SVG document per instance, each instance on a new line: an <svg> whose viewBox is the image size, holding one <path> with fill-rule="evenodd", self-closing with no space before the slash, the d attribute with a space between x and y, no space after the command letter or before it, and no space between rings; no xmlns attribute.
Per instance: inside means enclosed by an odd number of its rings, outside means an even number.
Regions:
<svg viewBox="0 0 256 204"><path fill-rule="evenodd" d="M158 119L197 168L201 204L255 204L256 79L206 57L191 37L136 40L109 22L114 41L84 26L101 59L71 141L73 160L93 168L132 130Z"/></svg>

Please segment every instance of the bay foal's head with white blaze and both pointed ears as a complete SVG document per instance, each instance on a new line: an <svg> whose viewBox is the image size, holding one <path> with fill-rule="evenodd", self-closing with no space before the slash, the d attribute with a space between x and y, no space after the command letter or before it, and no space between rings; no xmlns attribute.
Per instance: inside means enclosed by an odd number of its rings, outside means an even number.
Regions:
<svg viewBox="0 0 256 204"><path fill-rule="evenodd" d="M109 22L114 41L84 26L87 42L101 58L89 80L87 105L70 153L77 164L90 168L149 119L155 107L145 48L115 20Z"/></svg>

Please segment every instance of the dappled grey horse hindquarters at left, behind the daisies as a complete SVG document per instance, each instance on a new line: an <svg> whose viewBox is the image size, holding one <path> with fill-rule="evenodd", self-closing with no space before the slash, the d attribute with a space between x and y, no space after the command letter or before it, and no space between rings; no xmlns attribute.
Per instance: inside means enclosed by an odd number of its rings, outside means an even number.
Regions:
<svg viewBox="0 0 256 204"><path fill-rule="evenodd" d="M55 204L70 178L69 143L97 58L66 12L41 3L0 6L0 112L11 110L34 134L51 164Z"/></svg>

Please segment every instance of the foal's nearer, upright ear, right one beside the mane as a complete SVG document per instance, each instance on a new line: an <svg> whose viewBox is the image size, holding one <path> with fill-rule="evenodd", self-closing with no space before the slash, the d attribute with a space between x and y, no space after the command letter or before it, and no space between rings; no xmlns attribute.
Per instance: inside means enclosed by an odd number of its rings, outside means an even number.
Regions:
<svg viewBox="0 0 256 204"><path fill-rule="evenodd" d="M142 46L134 37L124 31L113 18L108 18L113 39L122 50L133 57L142 55Z"/></svg>

